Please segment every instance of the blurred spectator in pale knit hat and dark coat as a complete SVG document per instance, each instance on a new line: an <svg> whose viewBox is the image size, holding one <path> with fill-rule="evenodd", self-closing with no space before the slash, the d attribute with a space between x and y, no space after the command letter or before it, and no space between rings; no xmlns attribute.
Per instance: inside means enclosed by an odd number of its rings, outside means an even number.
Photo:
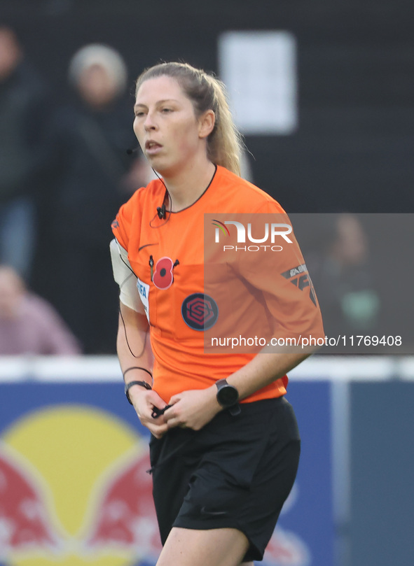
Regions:
<svg viewBox="0 0 414 566"><path fill-rule="evenodd" d="M47 295L85 353L114 353L118 300L108 243L111 221L130 196L125 178L134 161L126 150L137 146L133 101L123 97L125 63L106 45L76 52L69 82L74 101L56 113L51 133L52 224L43 255L53 257L49 280L57 284Z"/></svg>

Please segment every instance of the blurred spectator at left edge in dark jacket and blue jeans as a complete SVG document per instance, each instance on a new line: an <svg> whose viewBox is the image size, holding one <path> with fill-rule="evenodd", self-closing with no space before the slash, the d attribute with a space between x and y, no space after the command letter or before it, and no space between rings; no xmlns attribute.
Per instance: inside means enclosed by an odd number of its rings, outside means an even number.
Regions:
<svg viewBox="0 0 414 566"><path fill-rule="evenodd" d="M15 31L0 24L0 262L29 278L45 162L46 89Z"/></svg>

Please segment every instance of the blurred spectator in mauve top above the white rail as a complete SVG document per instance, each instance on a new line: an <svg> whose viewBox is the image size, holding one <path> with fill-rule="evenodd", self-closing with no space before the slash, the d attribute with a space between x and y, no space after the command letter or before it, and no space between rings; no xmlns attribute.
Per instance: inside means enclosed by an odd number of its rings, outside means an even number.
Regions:
<svg viewBox="0 0 414 566"><path fill-rule="evenodd" d="M0 355L80 353L55 309L27 291L17 271L0 266Z"/></svg>

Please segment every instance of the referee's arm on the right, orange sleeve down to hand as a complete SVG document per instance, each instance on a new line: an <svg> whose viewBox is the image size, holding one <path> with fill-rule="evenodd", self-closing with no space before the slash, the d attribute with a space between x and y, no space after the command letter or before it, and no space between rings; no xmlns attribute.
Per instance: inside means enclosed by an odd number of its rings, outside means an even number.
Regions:
<svg viewBox="0 0 414 566"><path fill-rule="evenodd" d="M275 205L270 205L270 208L272 206ZM284 213L276 217L267 214L258 218L261 222L276 219L284 222L282 226L287 226L289 221ZM258 291L260 303L265 302L269 318L274 324L270 329L272 337L282 340L282 344L284 341L287 344L296 344L287 348L265 346L246 365L230 374L227 382L235 386L240 399L245 399L284 377L287 372L318 349L309 346L303 348L303 344L311 343L310 336L319 339L324 335L317 297L293 232L290 238L290 243L284 246L283 253L275 255L264 250L263 253L242 255L240 256L242 259L237 259L232 264L237 277L246 281L250 288ZM302 285L296 281L298 274L303 281ZM296 285L292 285L295 281ZM247 295L246 304L251 293L247 292ZM238 302L244 304L240 295ZM254 308L253 304L251 309ZM242 316L248 317L248 312L246 311ZM169 427L185 426L195 430L202 428L222 410L216 393L217 388L214 383L205 390L189 390L174 395L169 402L173 406L165 411L165 419Z"/></svg>

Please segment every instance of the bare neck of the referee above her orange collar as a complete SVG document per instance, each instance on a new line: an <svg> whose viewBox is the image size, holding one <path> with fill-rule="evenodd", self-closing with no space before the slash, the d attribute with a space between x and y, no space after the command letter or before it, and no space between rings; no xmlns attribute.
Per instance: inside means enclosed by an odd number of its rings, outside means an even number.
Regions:
<svg viewBox="0 0 414 566"><path fill-rule="evenodd" d="M191 167L174 176L165 175L164 182L170 193L171 211L179 212L191 206L211 183L216 166L206 160L203 167Z"/></svg>

